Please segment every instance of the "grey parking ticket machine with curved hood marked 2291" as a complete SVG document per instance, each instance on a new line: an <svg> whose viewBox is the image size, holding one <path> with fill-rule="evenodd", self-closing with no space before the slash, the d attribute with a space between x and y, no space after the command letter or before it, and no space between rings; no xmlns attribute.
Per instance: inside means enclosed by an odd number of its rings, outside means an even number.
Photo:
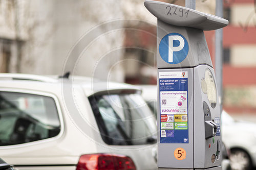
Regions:
<svg viewBox="0 0 256 170"><path fill-rule="evenodd" d="M228 21L145 1L157 17L158 167L221 169L221 114L204 31Z"/></svg>

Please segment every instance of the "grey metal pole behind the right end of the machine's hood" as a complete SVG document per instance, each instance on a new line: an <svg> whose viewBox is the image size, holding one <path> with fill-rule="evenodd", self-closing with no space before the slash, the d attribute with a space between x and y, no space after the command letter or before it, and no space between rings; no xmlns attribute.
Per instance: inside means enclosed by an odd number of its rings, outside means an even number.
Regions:
<svg viewBox="0 0 256 170"><path fill-rule="evenodd" d="M187 1L187 0L186 0ZM223 1L216 0L216 16L223 17ZM219 94L220 110L222 111L222 65L223 65L223 30L215 31L215 72Z"/></svg>

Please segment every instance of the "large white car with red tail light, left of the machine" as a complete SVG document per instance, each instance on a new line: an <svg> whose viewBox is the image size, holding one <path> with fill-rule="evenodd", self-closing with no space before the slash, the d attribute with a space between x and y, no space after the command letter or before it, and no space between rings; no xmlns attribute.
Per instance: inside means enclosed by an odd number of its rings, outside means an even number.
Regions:
<svg viewBox="0 0 256 170"><path fill-rule="evenodd" d="M156 119L136 86L0 74L0 157L19 169L157 169Z"/></svg>

